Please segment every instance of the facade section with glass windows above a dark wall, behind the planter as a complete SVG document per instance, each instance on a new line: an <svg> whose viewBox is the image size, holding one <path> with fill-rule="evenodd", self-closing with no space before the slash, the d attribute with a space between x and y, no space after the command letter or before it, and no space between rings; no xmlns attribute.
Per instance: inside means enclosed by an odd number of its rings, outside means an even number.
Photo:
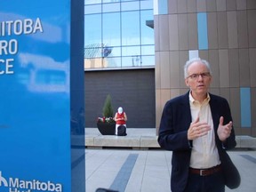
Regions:
<svg viewBox="0 0 256 192"><path fill-rule="evenodd" d="M153 0L85 0L85 127L96 127L110 94L128 128L156 128L153 20Z"/></svg>

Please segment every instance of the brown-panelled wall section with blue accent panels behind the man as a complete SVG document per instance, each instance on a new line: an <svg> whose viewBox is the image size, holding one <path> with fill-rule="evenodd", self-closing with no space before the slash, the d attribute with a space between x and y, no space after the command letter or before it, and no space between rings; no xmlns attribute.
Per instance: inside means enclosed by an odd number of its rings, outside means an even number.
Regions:
<svg viewBox="0 0 256 192"><path fill-rule="evenodd" d="M159 0L155 11L156 129L166 100L188 92L183 66L212 67L211 92L225 97L237 135L256 136L256 1Z"/></svg>

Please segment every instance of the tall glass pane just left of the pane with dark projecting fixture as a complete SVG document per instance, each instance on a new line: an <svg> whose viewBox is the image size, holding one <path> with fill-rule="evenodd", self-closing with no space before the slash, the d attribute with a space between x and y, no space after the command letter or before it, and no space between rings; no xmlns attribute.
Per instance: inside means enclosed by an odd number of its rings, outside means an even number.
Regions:
<svg viewBox="0 0 256 192"><path fill-rule="evenodd" d="M140 12L122 12L122 45L140 44Z"/></svg>

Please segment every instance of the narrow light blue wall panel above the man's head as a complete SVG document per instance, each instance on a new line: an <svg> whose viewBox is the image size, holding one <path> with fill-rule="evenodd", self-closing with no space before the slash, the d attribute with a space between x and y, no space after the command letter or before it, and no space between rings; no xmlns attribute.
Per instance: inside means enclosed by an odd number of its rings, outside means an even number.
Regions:
<svg viewBox="0 0 256 192"><path fill-rule="evenodd" d="M208 49L208 29L206 12L197 13L197 31L199 50Z"/></svg>

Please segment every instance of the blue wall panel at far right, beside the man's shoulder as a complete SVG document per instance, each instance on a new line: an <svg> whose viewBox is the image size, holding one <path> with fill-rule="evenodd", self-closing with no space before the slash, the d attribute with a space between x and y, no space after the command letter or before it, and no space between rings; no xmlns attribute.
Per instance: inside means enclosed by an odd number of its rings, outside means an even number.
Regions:
<svg viewBox="0 0 256 192"><path fill-rule="evenodd" d="M241 95L241 126L251 127L251 90L250 88L244 87L240 89Z"/></svg>

